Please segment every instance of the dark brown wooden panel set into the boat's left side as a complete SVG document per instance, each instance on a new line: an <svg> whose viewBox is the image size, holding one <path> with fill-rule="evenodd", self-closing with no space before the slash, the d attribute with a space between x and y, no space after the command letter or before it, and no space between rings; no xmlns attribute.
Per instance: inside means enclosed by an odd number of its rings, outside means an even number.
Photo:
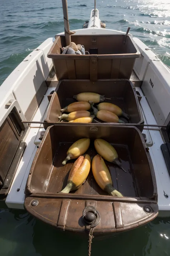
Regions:
<svg viewBox="0 0 170 256"><path fill-rule="evenodd" d="M0 127L0 200L7 196L24 153L26 143L22 139L25 132L25 126L13 107Z"/></svg>

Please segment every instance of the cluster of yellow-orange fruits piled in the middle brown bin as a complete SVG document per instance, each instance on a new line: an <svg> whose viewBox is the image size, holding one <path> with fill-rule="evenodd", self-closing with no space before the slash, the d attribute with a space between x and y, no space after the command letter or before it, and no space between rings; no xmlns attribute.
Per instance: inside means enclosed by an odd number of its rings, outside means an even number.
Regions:
<svg viewBox="0 0 170 256"><path fill-rule="evenodd" d="M79 93L74 95L73 98L75 98L77 102L71 103L61 109L61 113L69 112L69 114L62 114L59 117L59 121L67 120L76 123L91 123L95 116L101 121L115 123L124 123L119 119L119 116L129 119L128 114L124 113L117 105L103 102L105 99L108 99L105 98L104 95L98 93ZM99 103L97 108L94 107L96 103ZM90 108L92 108L94 112L92 115L88 111Z"/></svg>

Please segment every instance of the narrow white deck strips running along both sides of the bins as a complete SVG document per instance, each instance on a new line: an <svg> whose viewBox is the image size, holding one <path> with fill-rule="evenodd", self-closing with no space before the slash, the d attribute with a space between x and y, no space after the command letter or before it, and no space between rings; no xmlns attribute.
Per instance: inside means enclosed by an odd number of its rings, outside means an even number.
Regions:
<svg viewBox="0 0 170 256"><path fill-rule="evenodd" d="M145 124L152 123L156 124L156 120L151 111L151 108L146 100L145 95L140 88L142 81L140 81L136 74L133 72L131 76L131 81L133 82L136 91L138 91L141 95L141 109L143 113L143 118L145 120ZM55 75L54 70L50 72L47 80L48 90L43 97L41 104L39 105L39 109L36 112L32 121L43 121L46 118L46 112L48 108L48 98L47 95L51 93L52 90L55 90L58 81ZM25 140L27 143L27 147L23 154L22 161L20 162L18 169L16 171L15 179L13 180L13 184L11 185L9 194L6 198L6 205L9 208L24 208L24 190L25 184L27 182L27 178L29 175L30 167L32 165L32 161L37 151L37 147L40 144L41 140L39 140L41 131L45 131L43 125L31 124L29 134ZM151 128L152 129L152 128ZM169 197L165 197L165 194L170 195L170 176L167 171L166 163L164 160L164 156L161 152L160 145L164 143L159 128L157 130L143 130L142 133L146 135L146 144L150 149L150 155L152 158L152 163L154 165L157 189L158 189L158 204L159 204L159 216L169 216L170 215L170 199ZM160 180L165 180L162 184ZM160 203L161 202L161 203Z"/></svg>

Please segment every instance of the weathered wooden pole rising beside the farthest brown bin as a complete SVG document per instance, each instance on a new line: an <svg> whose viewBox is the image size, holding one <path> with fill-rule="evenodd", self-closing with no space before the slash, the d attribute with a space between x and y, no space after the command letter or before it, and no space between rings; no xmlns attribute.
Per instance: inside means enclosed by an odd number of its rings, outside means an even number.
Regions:
<svg viewBox="0 0 170 256"><path fill-rule="evenodd" d="M70 45L71 43L71 34L70 27L69 27L69 15L68 15L68 7L67 7L67 0L62 0L62 9L64 15L64 31L65 31L65 40L66 46Z"/></svg>

